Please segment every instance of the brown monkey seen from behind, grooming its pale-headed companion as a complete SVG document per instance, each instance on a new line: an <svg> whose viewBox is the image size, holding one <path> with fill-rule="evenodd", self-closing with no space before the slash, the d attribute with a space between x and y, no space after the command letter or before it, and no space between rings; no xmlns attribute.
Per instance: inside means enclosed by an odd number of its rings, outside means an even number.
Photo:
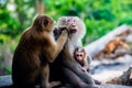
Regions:
<svg viewBox="0 0 132 88"><path fill-rule="evenodd" d="M63 50L68 33L63 30L55 41L54 20L44 14L35 16L32 25L26 29L14 51L12 63L12 80L14 88L51 88L48 82L50 67Z"/></svg>

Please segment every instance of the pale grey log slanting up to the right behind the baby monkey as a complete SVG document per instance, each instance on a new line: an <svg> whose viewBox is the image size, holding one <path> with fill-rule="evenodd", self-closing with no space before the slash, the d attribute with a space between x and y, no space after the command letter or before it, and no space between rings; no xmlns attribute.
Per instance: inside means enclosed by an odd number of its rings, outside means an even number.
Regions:
<svg viewBox="0 0 132 88"><path fill-rule="evenodd" d="M120 35L124 32L132 32L132 28L123 24L123 25L114 29L113 31L109 32L101 38L88 44L87 46L85 46L85 50L86 50L86 52L88 52L91 55L91 57L95 57L99 52L101 52L106 47L108 42L114 40L116 36Z"/></svg>

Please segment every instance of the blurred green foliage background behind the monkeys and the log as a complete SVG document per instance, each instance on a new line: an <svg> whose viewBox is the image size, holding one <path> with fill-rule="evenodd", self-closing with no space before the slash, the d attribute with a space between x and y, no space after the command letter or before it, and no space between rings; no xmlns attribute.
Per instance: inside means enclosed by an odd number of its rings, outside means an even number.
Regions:
<svg viewBox="0 0 132 88"><path fill-rule="evenodd" d="M23 30L31 25L41 0L0 0L0 75L11 74L11 58ZM132 0L42 0L43 13L57 21L77 15L87 28L84 45L122 24L132 24Z"/></svg>

